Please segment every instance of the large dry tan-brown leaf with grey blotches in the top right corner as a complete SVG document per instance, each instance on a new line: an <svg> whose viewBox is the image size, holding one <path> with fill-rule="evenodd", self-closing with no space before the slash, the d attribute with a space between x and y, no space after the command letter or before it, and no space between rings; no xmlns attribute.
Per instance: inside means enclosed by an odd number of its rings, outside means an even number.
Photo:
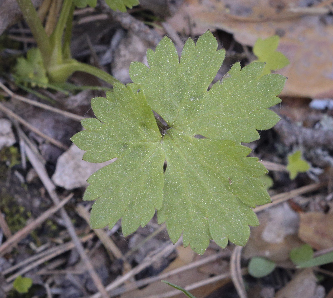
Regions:
<svg viewBox="0 0 333 298"><path fill-rule="evenodd" d="M207 29L232 33L244 45L258 37L281 36L278 50L290 64L278 71L288 77L283 95L333 97L333 25L320 15L290 12L299 1L185 0L168 23L178 32L200 35Z"/></svg>

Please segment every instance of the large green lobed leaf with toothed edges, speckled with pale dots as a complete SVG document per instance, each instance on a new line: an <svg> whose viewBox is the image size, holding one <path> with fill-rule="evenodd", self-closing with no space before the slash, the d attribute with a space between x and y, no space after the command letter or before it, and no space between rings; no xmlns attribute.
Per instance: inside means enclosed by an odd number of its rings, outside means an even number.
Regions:
<svg viewBox="0 0 333 298"><path fill-rule="evenodd" d="M96 200L91 225L113 226L122 218L125 235L146 225L158 210L169 236L202 254L209 239L245 245L248 225L258 225L251 207L270 202L259 178L267 173L240 142L259 138L257 129L279 117L267 108L285 77L261 76L263 63L232 66L207 91L224 58L207 31L196 45L188 39L180 62L171 40L148 51L150 68L134 62L135 84L115 84L107 98L92 100L97 119L72 139L87 152L84 160L118 160L93 174L85 200ZM163 118L157 121L157 118ZM158 116L158 115L159 116ZM166 169L164 173L164 163Z"/></svg>

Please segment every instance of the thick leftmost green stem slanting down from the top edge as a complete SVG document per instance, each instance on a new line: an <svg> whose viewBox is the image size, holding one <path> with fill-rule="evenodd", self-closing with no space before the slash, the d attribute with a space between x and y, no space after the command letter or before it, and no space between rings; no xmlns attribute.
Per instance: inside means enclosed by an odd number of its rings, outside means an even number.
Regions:
<svg viewBox="0 0 333 298"><path fill-rule="evenodd" d="M37 46L43 57L44 65L46 66L49 64L52 54L50 39L46 35L43 24L38 17L37 11L31 0L17 0L17 3L37 42Z"/></svg>

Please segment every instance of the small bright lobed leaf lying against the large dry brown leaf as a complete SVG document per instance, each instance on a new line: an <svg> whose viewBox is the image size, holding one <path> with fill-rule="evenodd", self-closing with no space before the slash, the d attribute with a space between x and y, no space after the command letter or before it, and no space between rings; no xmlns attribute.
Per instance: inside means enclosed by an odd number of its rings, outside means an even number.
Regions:
<svg viewBox="0 0 333 298"><path fill-rule="evenodd" d="M266 62L262 75L283 68L289 64L288 58L276 50L279 45L279 40L280 37L278 35L266 39L258 38L253 46L253 53L258 57L258 61Z"/></svg>

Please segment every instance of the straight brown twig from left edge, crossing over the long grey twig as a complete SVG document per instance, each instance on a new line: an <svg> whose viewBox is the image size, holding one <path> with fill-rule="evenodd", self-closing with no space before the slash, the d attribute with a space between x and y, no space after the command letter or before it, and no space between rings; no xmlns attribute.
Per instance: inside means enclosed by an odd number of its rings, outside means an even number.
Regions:
<svg viewBox="0 0 333 298"><path fill-rule="evenodd" d="M6 251L8 251L15 244L20 242L23 238L29 235L37 226L47 220L52 214L56 213L60 208L62 208L71 198L73 194L70 194L64 200L59 201L56 206L48 209L42 215L33 220L30 224L26 225L23 229L15 233L12 237L10 237L5 243L0 246L0 256L3 255Z"/></svg>

